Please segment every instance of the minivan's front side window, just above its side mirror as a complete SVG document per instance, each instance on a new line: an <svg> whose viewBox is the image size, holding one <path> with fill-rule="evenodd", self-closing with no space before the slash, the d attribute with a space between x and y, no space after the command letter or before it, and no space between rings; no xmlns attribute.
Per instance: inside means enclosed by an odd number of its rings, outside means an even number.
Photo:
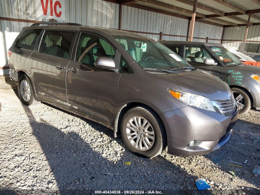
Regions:
<svg viewBox="0 0 260 195"><path fill-rule="evenodd" d="M115 50L106 40L97 35L81 33L75 60L94 66L94 62L98 57L114 59Z"/></svg>

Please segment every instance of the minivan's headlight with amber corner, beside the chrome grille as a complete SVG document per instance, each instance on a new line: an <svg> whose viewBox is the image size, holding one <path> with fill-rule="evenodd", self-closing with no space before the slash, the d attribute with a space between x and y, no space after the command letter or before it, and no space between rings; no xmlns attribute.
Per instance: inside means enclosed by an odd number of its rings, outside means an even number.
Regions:
<svg viewBox="0 0 260 195"><path fill-rule="evenodd" d="M204 96L195 95L193 93L187 93L184 91L178 91L173 89L168 89L168 91L174 98L182 101L185 104L216 112L211 101Z"/></svg>

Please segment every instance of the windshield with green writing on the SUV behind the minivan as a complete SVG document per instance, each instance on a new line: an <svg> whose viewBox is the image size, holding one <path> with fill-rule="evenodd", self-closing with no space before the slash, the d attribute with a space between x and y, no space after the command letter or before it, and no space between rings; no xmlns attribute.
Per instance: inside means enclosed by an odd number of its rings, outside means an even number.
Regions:
<svg viewBox="0 0 260 195"><path fill-rule="evenodd" d="M230 53L225 47L222 46L209 46L213 51L215 57L220 59L225 65L229 64L241 64L241 62Z"/></svg>

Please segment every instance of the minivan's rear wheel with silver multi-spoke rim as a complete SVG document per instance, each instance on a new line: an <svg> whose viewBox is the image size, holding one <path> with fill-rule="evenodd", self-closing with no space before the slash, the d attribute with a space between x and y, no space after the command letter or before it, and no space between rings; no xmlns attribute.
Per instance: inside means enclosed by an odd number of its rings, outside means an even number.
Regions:
<svg viewBox="0 0 260 195"><path fill-rule="evenodd" d="M18 94L21 102L27 106L37 103L37 101L34 100L32 84L26 75L20 76L18 80Z"/></svg>

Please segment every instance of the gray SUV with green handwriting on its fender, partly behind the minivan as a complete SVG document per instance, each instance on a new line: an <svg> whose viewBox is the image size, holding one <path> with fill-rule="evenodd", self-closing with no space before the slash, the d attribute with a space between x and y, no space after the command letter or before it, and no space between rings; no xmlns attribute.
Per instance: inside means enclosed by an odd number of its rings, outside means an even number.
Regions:
<svg viewBox="0 0 260 195"><path fill-rule="evenodd" d="M160 41L189 64L225 81L238 103L239 114L260 109L260 67L245 66L219 43Z"/></svg>

